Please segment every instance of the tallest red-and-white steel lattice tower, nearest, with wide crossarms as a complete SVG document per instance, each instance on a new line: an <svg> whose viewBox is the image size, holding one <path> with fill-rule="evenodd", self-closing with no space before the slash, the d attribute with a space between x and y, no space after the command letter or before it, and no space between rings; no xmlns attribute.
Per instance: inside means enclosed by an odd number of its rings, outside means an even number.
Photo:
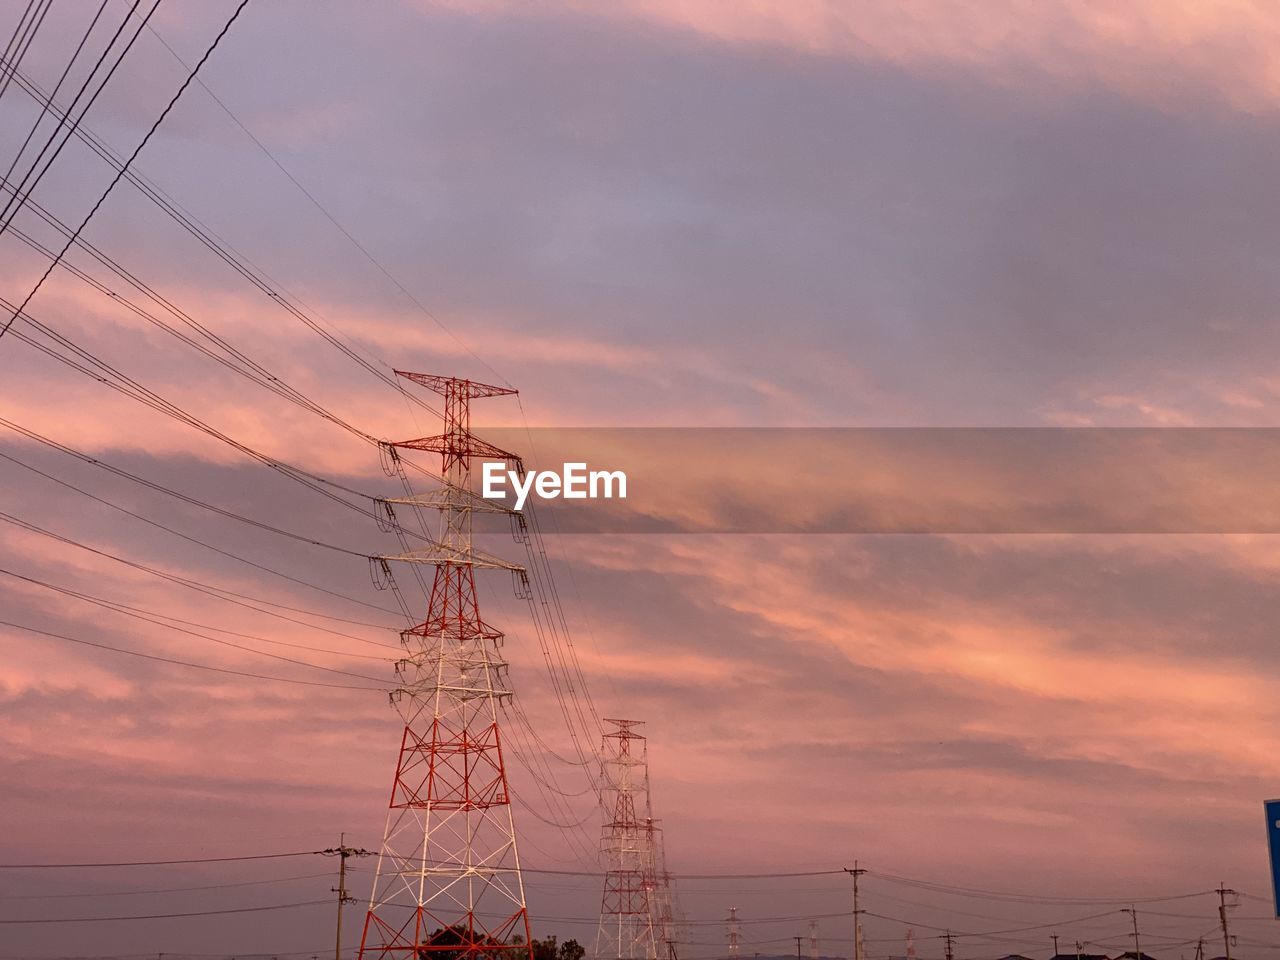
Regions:
<svg viewBox="0 0 1280 960"><path fill-rule="evenodd" d="M509 698L502 634L484 622L476 568L522 568L471 545L471 515L508 512L471 492L472 457L518 460L471 435L470 402L515 390L407 374L444 397L444 434L389 444L439 453L445 484L399 503L440 512L438 541L380 558L435 567L426 618L402 634L404 721L360 960L532 957L498 705ZM520 934L522 946L508 946Z"/></svg>

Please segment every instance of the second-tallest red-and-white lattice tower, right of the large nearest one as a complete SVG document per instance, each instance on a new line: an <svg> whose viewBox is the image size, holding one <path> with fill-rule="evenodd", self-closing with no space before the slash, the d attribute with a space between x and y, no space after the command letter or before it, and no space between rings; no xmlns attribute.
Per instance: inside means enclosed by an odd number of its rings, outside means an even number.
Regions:
<svg viewBox="0 0 1280 960"><path fill-rule="evenodd" d="M605 810L600 852L607 872L595 960L657 960L658 878L645 739L634 730L640 721L604 722L614 730L604 735L600 763L600 801Z"/></svg>

